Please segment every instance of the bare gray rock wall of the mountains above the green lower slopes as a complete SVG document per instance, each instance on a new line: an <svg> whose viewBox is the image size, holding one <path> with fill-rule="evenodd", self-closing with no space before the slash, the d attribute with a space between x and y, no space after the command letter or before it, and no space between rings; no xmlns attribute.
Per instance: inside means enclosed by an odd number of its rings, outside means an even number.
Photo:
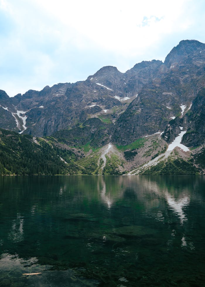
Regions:
<svg viewBox="0 0 205 287"><path fill-rule="evenodd" d="M86 81L14 98L0 91L0 127L95 146L126 145L163 131L170 143L183 127L183 143L198 146L204 142L204 71L205 44L183 40L164 63L143 61L126 73L106 66Z"/></svg>

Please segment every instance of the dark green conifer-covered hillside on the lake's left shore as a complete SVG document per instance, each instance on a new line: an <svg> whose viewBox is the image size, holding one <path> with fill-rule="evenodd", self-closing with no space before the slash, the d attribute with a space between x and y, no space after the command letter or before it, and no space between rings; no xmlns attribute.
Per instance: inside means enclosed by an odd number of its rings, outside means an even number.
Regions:
<svg viewBox="0 0 205 287"><path fill-rule="evenodd" d="M36 143L34 140L29 135L0 129L0 175L76 173L76 155L72 151L52 146L44 139L38 138Z"/></svg>

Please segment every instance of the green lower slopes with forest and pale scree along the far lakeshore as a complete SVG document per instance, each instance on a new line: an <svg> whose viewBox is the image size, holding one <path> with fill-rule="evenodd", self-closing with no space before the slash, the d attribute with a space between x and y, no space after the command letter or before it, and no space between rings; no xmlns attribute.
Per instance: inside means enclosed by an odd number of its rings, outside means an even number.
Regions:
<svg viewBox="0 0 205 287"><path fill-rule="evenodd" d="M194 175L205 171L205 147L172 151L160 134L127 146L93 148L70 138L38 138L0 129L0 175ZM83 144L85 143L85 144ZM168 149L167 149L168 148Z"/></svg>

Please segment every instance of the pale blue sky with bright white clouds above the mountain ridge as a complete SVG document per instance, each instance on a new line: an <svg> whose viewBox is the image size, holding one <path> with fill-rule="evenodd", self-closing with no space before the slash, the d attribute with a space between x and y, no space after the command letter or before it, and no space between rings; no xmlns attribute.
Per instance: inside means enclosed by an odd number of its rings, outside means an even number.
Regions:
<svg viewBox="0 0 205 287"><path fill-rule="evenodd" d="M12 97L165 60L181 40L205 43L204 0L0 0L0 89Z"/></svg>

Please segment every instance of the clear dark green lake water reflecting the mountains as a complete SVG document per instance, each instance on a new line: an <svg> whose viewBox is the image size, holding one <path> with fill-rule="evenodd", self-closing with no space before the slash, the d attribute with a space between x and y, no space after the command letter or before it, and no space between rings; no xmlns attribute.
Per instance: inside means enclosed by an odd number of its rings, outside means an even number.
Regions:
<svg viewBox="0 0 205 287"><path fill-rule="evenodd" d="M203 176L0 177L0 286L205 286L204 186Z"/></svg>

